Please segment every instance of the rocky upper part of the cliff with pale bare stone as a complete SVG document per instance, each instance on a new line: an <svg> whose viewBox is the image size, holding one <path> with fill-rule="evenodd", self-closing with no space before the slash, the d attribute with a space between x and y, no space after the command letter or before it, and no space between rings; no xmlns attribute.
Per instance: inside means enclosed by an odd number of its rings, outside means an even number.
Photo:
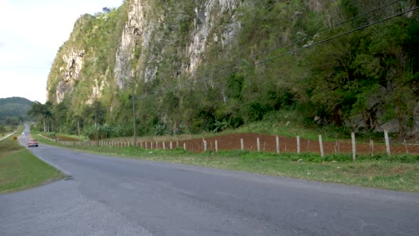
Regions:
<svg viewBox="0 0 419 236"><path fill-rule="evenodd" d="M101 21L109 21L112 16L82 17L54 61L58 70L53 66L50 73L49 100L59 104L81 85L76 81L88 79L93 82L88 83L90 92L87 92L85 102L90 103L101 97L105 87L116 86L125 90L132 77L152 81L167 63L176 67L176 72L166 75L168 77L194 75L208 45L220 43L222 48L228 49L236 40L240 23L236 21L235 10L240 3L238 0L127 1L117 12L127 15L126 19L119 19L120 24L124 21L123 30L112 32L112 37L119 38L116 50L108 48L114 54L108 55L108 65L101 72L97 72L97 67L103 65L97 65L94 59L101 55L89 48L95 47L96 42L88 45L90 43L83 39L86 37L83 32L90 30L88 34L98 34L103 30ZM221 20L229 23L220 23ZM177 45L179 41L182 41L181 46ZM94 77L86 77L88 73L83 73L86 61L89 61L90 68L96 68Z"/></svg>

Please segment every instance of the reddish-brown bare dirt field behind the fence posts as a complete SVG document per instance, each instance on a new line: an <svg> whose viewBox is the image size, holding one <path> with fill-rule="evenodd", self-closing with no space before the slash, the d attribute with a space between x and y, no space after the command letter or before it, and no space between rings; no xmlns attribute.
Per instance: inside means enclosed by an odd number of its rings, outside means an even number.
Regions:
<svg viewBox="0 0 419 236"><path fill-rule="evenodd" d="M257 144L256 139L260 140L260 151L276 153L276 136L275 135L263 135L256 133L243 133L243 134L232 134L232 135L221 135L218 137L205 138L207 141L207 150L215 150L215 140L218 142L218 150L240 150L241 143L240 139L243 139L245 150L256 151ZM148 148L150 148L150 142L148 142ZM186 144L186 149L195 153L203 152L203 139L190 139L178 141L179 148L183 148L183 144ZM297 153L297 141L296 138L292 137L279 137L280 152L281 153ZM170 147L170 142L165 142L165 148ZM173 142L173 147L176 148L176 141ZM154 142L153 148L156 148ZM159 142L159 148L163 148L163 144ZM316 140L300 139L300 150L301 153L320 153L320 146ZM325 155L331 155L336 152L338 153L352 153L352 145L350 140L338 140L338 141L323 141L323 150ZM407 150L409 154L419 154L418 145L408 145ZM374 144L374 153L385 153L385 144ZM406 147L404 145L390 145L391 154L405 154ZM357 154L371 154L371 147L369 144L356 144Z"/></svg>

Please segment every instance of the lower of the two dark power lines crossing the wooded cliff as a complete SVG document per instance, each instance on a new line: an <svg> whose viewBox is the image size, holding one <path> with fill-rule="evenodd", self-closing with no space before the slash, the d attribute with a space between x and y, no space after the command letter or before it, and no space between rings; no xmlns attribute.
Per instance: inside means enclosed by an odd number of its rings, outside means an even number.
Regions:
<svg viewBox="0 0 419 236"><path fill-rule="evenodd" d="M334 36L334 37L330 37L330 38L328 38L328 39L323 39L323 40L318 41L318 42L316 42L316 43L312 43L312 44L311 44L311 45L309 45L309 46L303 46L303 47L301 47L301 48L297 48L297 49L295 49L295 50L291 50L291 51L289 51L289 52L285 52L285 53L283 53L283 54L281 54L281 55L277 55L277 56L275 56L275 57L271 57L271 58L269 58L269 59L265 59L265 60L263 60L263 61L258 61L258 62L256 62L256 63L253 63L252 65L245 66L245 67L243 67L243 68L238 68L238 69L236 69L236 70L231 70L231 71L229 71L229 72L224 72L224 73L222 73L222 74L220 74L220 75L216 75L216 76L214 76L214 77L210 77L210 78L207 78L207 79L201 79L201 80L199 80L199 81L193 81L191 84L189 84L189 85L184 85L184 86L181 86L181 87L182 87L182 88L191 87L191 86L194 86L194 85L195 85L195 84L197 84L197 83L203 83L203 82L205 82L205 81L210 81L210 80L213 80L213 79L218 79L218 78L220 78L220 77L224 77L225 75L231 75L231 74L233 74L233 73L235 73L235 72L239 72L239 71L241 71L241 70L246 70L246 69L248 69L248 68L252 68L252 67L254 67L254 66L258 66L258 65L260 65L260 64L267 63L268 61L273 61L273 60L278 59L278 58L280 58L280 57L285 57L285 56L287 56L287 55L292 55L292 54L294 54L294 53L296 53L296 52L299 52L299 51L301 51L301 50L305 50L305 49L307 49L307 48L311 48L311 47L317 46L317 45L319 45L319 44L321 44L321 43L325 43L325 42L327 42L327 41L331 41L331 40L336 39L336 38L338 38L338 37L343 37L343 36L345 36L345 35L349 35L349 34L351 34L351 33L353 33L353 32L358 31L358 30L362 30L362 29L364 29L364 28L368 28L368 27L370 27L370 26L374 26L374 25L376 25L376 24L378 24L378 23L382 23L382 22L384 22L384 21L388 21L389 19L393 19L393 18L399 17L399 16L400 16L400 15L402 15L402 14L406 14L406 13L408 13L408 12L412 12L413 10L417 10L418 8L419 8L419 7L416 7L416 8L411 8L411 9L409 9L409 10L406 10L405 12L400 12L400 13L398 13L398 14L394 14L394 15L393 15L393 16L391 16L391 17L387 17L387 18L385 18L385 19L381 19L380 21L375 21L375 22L373 22L373 23L369 23L369 24L367 24L367 25L365 25L365 26L360 26L360 27L358 27L358 28L356 28L356 29L354 29L354 30L349 30L349 31L347 31L347 32L344 32L344 33L342 33L342 34L340 34L340 35L336 35L336 36ZM163 93L165 93L165 92L172 91L172 90L176 90L176 88L175 88L175 87L172 87L172 88L170 88L170 89L168 89L168 90L163 90L163 91L161 91L161 92L159 92L159 91L155 91L154 93L150 93L148 96L152 96L152 95L159 95L159 93L163 94ZM145 97L145 96L147 96L147 95L143 95L143 97Z"/></svg>

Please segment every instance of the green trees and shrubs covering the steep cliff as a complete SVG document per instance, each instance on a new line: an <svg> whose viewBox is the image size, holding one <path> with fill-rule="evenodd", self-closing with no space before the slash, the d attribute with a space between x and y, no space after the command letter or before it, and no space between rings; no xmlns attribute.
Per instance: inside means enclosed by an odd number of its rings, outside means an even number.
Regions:
<svg viewBox="0 0 419 236"><path fill-rule="evenodd" d="M50 72L56 127L76 132L77 122L97 123L96 113L88 115L96 104L99 123L130 130L134 84L141 134L220 131L278 110L297 110L307 124L418 133L416 12L307 47L416 7L398 1L349 20L391 2L132 0L84 15ZM132 23L139 9L145 22ZM128 46L124 34L132 34ZM63 60L72 51L83 52L77 77L77 66ZM130 63L117 66L124 59ZM116 78L116 68L126 77Z"/></svg>

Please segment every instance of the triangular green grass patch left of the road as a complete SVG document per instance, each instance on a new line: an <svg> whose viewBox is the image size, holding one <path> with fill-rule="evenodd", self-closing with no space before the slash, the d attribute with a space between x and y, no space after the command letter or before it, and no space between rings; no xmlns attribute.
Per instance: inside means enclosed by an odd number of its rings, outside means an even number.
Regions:
<svg viewBox="0 0 419 236"><path fill-rule="evenodd" d="M22 131L23 128L17 133ZM19 146L12 137L0 141L0 193L33 188L63 177L61 172Z"/></svg>

